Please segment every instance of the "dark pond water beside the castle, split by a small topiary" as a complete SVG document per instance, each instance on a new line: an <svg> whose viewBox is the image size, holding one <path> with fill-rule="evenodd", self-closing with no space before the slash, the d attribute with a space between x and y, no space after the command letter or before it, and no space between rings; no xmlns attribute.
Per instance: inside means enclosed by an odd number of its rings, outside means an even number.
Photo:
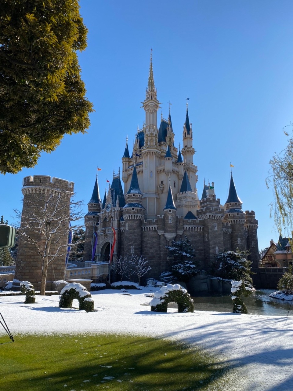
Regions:
<svg viewBox="0 0 293 391"><path fill-rule="evenodd" d="M273 299L269 297L272 292L274 291L271 289L262 289L255 291L250 297L244 298L248 314L287 316L291 301ZM231 294L198 292L198 295L192 298L195 311L232 312ZM293 304L289 316L293 316Z"/></svg>

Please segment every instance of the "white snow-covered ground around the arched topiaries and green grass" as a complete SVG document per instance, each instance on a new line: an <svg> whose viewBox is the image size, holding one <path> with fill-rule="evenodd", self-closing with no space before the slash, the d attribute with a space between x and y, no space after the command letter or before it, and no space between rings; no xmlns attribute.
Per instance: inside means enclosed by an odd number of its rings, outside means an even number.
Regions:
<svg viewBox="0 0 293 391"><path fill-rule="evenodd" d="M152 289L152 288L151 288ZM153 291L156 289L153 288ZM151 297L142 291L92 292L95 312L58 307L59 296L1 296L11 334L126 333L170 338L201 346L229 364L230 386L223 391L293 390L293 317L204 312L151 312ZM77 305L78 306L78 305ZM231 300L232 310L232 300ZM293 310L292 310L293 315ZM1 327L1 326L0 326ZM5 331L0 328L1 339ZM7 339L9 339L6 334ZM17 337L15 338L17 343Z"/></svg>

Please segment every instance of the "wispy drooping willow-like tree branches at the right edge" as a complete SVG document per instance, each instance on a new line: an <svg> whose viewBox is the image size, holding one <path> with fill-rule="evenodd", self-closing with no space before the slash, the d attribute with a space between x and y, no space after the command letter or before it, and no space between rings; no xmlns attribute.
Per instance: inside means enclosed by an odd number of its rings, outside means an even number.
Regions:
<svg viewBox="0 0 293 391"><path fill-rule="evenodd" d="M288 126L293 126L293 124ZM284 130L284 133L289 137L287 131ZM293 136L288 138L286 148L273 156L270 165L271 175L266 179L266 185L268 188L273 188L274 201L271 204L271 215L274 217L279 233L283 237L291 237L293 230Z"/></svg>

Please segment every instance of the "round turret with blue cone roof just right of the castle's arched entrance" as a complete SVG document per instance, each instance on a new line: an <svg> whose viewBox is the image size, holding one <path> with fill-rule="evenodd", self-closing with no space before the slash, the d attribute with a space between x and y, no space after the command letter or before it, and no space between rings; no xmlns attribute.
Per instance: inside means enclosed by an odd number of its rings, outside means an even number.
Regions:
<svg viewBox="0 0 293 391"><path fill-rule="evenodd" d="M145 218L145 208L141 204L142 192L138 185L136 167L133 168L130 188L126 193L126 204L123 206L124 220L124 255L141 255L142 229L141 221Z"/></svg>

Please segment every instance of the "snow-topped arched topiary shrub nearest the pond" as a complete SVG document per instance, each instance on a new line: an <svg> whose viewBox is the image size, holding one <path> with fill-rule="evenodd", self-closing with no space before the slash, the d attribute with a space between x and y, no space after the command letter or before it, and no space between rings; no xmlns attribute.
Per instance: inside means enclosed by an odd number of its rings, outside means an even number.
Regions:
<svg viewBox="0 0 293 391"><path fill-rule="evenodd" d="M150 301L151 311L167 312L168 303L175 302L178 312L193 312L193 300L186 289L179 284L168 284L154 293L154 298Z"/></svg>

